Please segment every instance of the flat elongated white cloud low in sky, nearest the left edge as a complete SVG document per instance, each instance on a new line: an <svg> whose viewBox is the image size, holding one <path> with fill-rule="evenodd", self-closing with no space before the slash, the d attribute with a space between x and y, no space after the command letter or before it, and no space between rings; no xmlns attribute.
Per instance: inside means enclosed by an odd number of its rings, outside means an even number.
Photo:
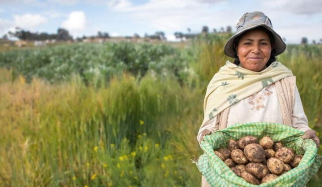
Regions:
<svg viewBox="0 0 322 187"><path fill-rule="evenodd" d="M22 29L30 29L47 22L47 19L39 14L14 15L14 24Z"/></svg>

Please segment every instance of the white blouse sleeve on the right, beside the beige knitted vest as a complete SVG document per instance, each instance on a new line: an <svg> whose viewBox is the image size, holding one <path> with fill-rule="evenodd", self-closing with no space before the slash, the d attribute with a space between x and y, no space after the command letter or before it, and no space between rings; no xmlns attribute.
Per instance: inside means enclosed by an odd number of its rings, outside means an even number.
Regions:
<svg viewBox="0 0 322 187"><path fill-rule="evenodd" d="M304 113L302 101L297 87L295 87L295 99L292 113L292 127L302 132L310 130L310 128L308 127L307 117Z"/></svg>

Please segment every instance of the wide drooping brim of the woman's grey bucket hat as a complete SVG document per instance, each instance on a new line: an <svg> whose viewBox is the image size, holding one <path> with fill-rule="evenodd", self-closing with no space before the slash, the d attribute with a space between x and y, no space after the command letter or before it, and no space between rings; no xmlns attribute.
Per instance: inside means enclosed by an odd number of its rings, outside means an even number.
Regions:
<svg viewBox="0 0 322 187"><path fill-rule="evenodd" d="M279 55L281 54L282 52L284 52L284 50L286 49L286 44L284 43L283 39L281 38L280 35L278 35L273 29L271 29L270 27L268 27L267 25L265 24L261 24L261 25L254 25L254 26L251 26L251 27L248 27L248 28L245 28L243 30L240 30L239 32L236 32L234 35L232 35L228 41L226 42L225 44L225 47L224 47L224 53L227 55L227 56L230 56L230 57L235 57L234 54L235 54L235 51L233 49L233 41L234 39L243 34L244 32L248 31L248 30L251 30L251 29L254 29L254 28L257 28L257 27L264 27L265 29L269 30L272 34L273 34L273 37L274 37L274 49L276 51L275 53L275 56L276 55Z"/></svg>

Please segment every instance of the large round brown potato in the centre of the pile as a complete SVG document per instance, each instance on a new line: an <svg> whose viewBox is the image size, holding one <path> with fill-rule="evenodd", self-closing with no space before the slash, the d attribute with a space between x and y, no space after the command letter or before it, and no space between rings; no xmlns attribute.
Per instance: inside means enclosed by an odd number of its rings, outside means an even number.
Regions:
<svg viewBox="0 0 322 187"><path fill-rule="evenodd" d="M244 149L244 153L250 162L263 162L265 160L264 149L259 144L248 144Z"/></svg>

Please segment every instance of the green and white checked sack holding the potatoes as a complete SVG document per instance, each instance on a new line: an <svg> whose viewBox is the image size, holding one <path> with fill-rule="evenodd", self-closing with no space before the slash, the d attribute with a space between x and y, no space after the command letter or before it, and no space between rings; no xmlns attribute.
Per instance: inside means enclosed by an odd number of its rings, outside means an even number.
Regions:
<svg viewBox="0 0 322 187"><path fill-rule="evenodd" d="M199 171L210 186L305 186L321 166L322 156L317 155L316 144L311 139L303 140L304 133L286 126L271 122L237 123L224 130L205 136L201 142L204 151L195 161ZM270 136L275 142L281 141L284 146L294 149L296 154L304 154L299 165L266 183L254 185L238 177L213 150L227 147L229 139L238 140L251 135L258 139Z"/></svg>

